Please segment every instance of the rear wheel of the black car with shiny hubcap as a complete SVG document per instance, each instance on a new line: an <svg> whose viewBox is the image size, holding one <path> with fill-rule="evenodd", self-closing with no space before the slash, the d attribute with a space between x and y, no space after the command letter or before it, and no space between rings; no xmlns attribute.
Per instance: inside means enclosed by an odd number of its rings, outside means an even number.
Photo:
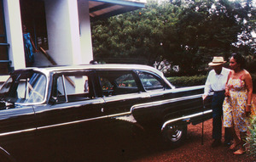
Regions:
<svg viewBox="0 0 256 162"><path fill-rule="evenodd" d="M183 142L184 137L187 135L187 126L166 126L162 131L162 136L167 144L178 146Z"/></svg>

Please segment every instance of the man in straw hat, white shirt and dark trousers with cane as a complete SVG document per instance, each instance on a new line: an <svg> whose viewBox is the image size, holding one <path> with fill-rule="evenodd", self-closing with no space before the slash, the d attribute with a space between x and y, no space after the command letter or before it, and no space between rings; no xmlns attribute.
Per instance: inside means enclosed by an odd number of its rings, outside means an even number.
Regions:
<svg viewBox="0 0 256 162"><path fill-rule="evenodd" d="M224 63L226 63L226 61L224 61L223 57L213 57L212 62L209 63L209 66L211 66L213 70L211 70L207 76L205 92L202 96L203 100L205 100L210 92L214 92L212 97L212 138L214 139L212 148L221 145L222 105L225 98L225 84L230 73L230 70L223 67ZM231 139L230 131L225 128L224 144L227 146L230 145Z"/></svg>

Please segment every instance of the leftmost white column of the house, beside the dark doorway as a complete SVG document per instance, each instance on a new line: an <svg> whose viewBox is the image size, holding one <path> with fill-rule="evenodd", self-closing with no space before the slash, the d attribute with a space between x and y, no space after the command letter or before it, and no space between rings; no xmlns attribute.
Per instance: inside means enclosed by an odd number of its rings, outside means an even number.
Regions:
<svg viewBox="0 0 256 162"><path fill-rule="evenodd" d="M20 0L3 0L9 59L15 70L26 67L20 18Z"/></svg>

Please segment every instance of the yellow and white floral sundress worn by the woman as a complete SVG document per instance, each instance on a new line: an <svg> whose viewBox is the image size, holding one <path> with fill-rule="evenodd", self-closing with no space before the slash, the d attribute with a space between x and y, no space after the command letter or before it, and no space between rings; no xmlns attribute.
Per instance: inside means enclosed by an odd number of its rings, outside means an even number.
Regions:
<svg viewBox="0 0 256 162"><path fill-rule="evenodd" d="M241 78L241 77L240 77ZM232 79L228 81L230 97L224 99L224 127L231 127L235 124L239 131L247 131L249 121L245 116L247 106L247 88L245 82L241 79ZM255 115L255 107L252 104L252 115Z"/></svg>

